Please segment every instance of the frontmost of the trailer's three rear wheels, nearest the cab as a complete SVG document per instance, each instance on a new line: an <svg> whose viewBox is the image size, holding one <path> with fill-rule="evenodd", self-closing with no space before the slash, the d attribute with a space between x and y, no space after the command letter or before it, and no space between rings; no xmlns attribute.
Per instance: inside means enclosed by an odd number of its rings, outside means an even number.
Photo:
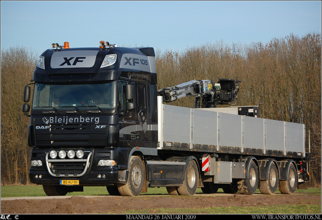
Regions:
<svg viewBox="0 0 322 220"><path fill-rule="evenodd" d="M249 164L247 176L247 179L238 181L238 189L241 194L253 195L259 182L259 171L254 161Z"/></svg>

